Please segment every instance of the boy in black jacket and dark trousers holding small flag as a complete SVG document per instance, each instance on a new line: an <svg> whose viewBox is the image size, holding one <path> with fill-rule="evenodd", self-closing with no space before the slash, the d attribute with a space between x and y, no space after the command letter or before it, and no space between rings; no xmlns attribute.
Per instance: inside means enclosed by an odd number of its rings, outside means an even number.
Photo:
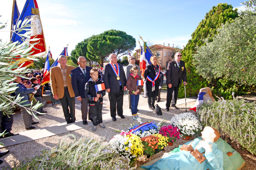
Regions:
<svg viewBox="0 0 256 170"><path fill-rule="evenodd" d="M93 119L93 131L97 130L97 125L105 128L102 123L102 104L103 96L106 94L105 85L98 79L99 72L92 68L90 71L91 79L85 84L85 97L89 100L89 107Z"/></svg>

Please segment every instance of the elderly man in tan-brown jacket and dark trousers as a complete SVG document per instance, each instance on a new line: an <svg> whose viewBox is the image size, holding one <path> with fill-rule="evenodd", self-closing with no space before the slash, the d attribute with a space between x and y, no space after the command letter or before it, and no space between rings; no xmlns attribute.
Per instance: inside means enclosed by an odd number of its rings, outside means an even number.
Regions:
<svg viewBox="0 0 256 170"><path fill-rule="evenodd" d="M60 66L51 68L50 72L53 98L61 101L61 106L67 124L74 123L76 121L76 99L71 85L71 70L73 70L75 67L67 66L67 58L64 55L59 56L58 62Z"/></svg>

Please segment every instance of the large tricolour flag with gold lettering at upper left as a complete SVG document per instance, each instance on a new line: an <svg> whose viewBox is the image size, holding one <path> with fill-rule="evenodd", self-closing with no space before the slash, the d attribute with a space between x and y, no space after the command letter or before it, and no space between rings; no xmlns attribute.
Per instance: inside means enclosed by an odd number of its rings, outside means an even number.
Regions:
<svg viewBox="0 0 256 170"><path fill-rule="evenodd" d="M38 44L34 45L34 48L31 49L30 52L33 52L33 55L45 52L46 43L43 37L43 28L42 28L42 23L39 15L39 8L36 0L26 0L22 13L20 14L20 17L18 18L17 22L21 21L22 23L25 19L32 19L32 21L30 21L30 24L33 25L30 27L31 29L31 34L29 35L30 38L21 37L20 35L17 34L18 32L15 32L11 37L11 41L13 42L18 41L22 43L24 42L24 40L39 38L39 40L37 41L31 41L31 43L38 43ZM19 34L25 34L26 32L27 30L22 30L21 32L19 32Z"/></svg>

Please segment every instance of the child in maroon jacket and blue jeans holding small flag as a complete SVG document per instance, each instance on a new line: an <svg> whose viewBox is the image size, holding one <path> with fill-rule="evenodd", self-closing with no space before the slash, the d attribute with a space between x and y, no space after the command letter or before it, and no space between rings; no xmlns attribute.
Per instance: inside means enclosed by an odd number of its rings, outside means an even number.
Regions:
<svg viewBox="0 0 256 170"><path fill-rule="evenodd" d="M126 88L129 90L131 99L132 119L134 120L139 118L137 115L137 107L139 103L139 94L141 94L141 89L143 87L143 80L141 80L141 77L138 75L138 71L139 69L136 66L133 66L126 83Z"/></svg>

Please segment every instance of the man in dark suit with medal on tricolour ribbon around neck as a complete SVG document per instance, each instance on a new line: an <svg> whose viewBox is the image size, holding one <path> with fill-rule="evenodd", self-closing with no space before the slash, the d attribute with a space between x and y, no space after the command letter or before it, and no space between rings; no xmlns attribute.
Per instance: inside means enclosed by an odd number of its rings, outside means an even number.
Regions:
<svg viewBox="0 0 256 170"><path fill-rule="evenodd" d="M123 101L124 90L126 90L126 77L122 64L117 63L117 56L115 53L109 55L110 63L103 69L103 81L106 91L108 92L108 99L110 102L110 114L113 121L116 112L119 117L124 119L123 115Z"/></svg>

